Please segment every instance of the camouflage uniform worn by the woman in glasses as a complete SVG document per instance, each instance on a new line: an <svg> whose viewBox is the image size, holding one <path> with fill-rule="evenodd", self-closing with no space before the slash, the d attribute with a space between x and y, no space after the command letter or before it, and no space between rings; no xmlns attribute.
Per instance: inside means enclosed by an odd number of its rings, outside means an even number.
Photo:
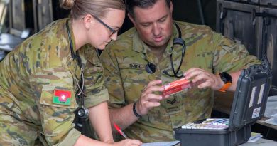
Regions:
<svg viewBox="0 0 277 146"><path fill-rule="evenodd" d="M0 63L0 145L74 145L81 133L72 123L80 67L72 59L66 19L49 24ZM70 25L69 25L70 26ZM75 40L72 34L72 43ZM75 51L75 48L73 48ZM87 108L108 100L102 65L92 46L78 50ZM75 51L76 53L76 51ZM53 103L53 90L69 90L70 105Z"/></svg>

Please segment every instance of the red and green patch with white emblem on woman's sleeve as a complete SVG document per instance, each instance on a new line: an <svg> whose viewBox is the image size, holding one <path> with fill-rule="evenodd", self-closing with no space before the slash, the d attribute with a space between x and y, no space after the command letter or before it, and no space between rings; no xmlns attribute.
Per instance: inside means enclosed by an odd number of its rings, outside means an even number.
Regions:
<svg viewBox="0 0 277 146"><path fill-rule="evenodd" d="M70 105L71 91L69 90L54 90L53 103L59 105Z"/></svg>

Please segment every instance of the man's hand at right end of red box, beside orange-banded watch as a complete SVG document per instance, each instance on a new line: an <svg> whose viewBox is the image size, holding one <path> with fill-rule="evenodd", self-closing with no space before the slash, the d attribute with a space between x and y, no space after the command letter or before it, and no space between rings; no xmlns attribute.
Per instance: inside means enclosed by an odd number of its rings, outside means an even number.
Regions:
<svg viewBox="0 0 277 146"><path fill-rule="evenodd" d="M214 75L200 68L190 68L184 73L184 76L186 80L192 79L192 83L197 85L197 88L219 90L224 85L219 75Z"/></svg>

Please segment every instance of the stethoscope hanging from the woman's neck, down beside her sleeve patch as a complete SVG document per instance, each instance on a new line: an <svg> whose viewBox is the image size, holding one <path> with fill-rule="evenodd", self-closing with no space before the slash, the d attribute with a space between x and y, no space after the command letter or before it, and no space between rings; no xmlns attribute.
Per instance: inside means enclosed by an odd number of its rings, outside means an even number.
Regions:
<svg viewBox="0 0 277 146"><path fill-rule="evenodd" d="M75 93L75 95L78 98L81 98L82 106L77 109L76 113L77 113L77 116L79 118L84 118L85 119L89 115L89 110L87 108L85 108L85 103L84 103L85 102L84 101L84 97L85 97L85 93L84 93L84 91L85 91L85 83L84 83L84 73L83 73L83 69L82 69L82 60L81 60L81 58L79 56L79 53L77 52L75 54L74 51L73 51L73 45L72 45L72 39L71 39L71 35L70 35L70 28L68 26L68 20L66 21L65 25L66 25L66 28L67 28L68 40L69 40L69 43L70 43L71 56L72 56L73 60L76 59L77 64L78 64L78 66L81 69L80 82L78 83L77 79L75 78L75 81L76 81L77 87L78 87L78 90Z"/></svg>

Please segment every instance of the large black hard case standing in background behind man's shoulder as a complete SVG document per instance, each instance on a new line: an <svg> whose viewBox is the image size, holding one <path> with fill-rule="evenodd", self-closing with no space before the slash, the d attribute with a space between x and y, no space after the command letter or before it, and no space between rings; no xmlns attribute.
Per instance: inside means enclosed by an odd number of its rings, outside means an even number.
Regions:
<svg viewBox="0 0 277 146"><path fill-rule="evenodd" d="M273 75L277 74L276 28L277 0L217 0L217 32L244 44L259 59L267 54ZM269 95L277 95L276 78Z"/></svg>

